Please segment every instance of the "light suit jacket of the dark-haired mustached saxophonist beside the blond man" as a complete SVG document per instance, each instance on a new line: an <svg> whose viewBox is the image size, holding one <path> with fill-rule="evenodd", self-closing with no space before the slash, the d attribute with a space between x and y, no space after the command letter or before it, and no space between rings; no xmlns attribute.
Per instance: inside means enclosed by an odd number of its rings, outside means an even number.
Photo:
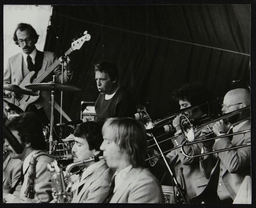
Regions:
<svg viewBox="0 0 256 208"><path fill-rule="evenodd" d="M102 203L109 192L109 184L113 176L113 171L108 168L105 160L95 163L93 171L87 177L78 179L73 187L77 187L74 191L71 203ZM85 170L86 171L86 170ZM83 185L78 193L78 185Z"/></svg>

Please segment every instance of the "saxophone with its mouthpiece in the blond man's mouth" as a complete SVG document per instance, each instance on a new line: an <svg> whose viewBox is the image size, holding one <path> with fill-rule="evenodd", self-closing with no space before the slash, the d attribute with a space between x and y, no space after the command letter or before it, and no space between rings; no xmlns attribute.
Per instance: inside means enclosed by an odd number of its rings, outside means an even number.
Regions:
<svg viewBox="0 0 256 208"><path fill-rule="evenodd" d="M56 161L51 162L48 164L48 169L51 172L51 178L52 178L52 197L55 203L70 203L71 202L71 193L72 193L72 185L73 182L71 180L71 170L76 166L82 166L86 164L87 162L98 162L99 160L104 159L103 156L94 156L93 158L90 158L88 160L83 160L79 162L71 163L70 165L67 165L66 168L66 180L67 180L67 187L65 186L66 182L64 180L64 175L59 168Z"/></svg>

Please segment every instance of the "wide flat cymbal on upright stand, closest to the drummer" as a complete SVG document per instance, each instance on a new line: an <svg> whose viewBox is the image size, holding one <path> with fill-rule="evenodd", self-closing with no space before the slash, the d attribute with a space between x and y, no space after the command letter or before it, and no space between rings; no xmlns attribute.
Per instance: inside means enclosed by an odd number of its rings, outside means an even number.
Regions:
<svg viewBox="0 0 256 208"><path fill-rule="evenodd" d="M74 85L67 85L67 84L61 84L61 83L55 83L55 82L26 85L25 87L32 90L41 90L41 91L52 91L52 89L54 89L54 91L81 90L75 87Z"/></svg>

